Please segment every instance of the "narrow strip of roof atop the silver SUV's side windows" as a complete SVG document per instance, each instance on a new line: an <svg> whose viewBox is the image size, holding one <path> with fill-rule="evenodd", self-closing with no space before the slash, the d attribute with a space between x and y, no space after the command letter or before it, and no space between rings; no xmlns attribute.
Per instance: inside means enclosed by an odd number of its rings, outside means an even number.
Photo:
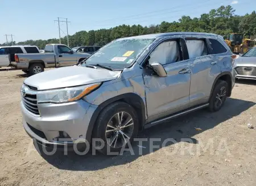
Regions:
<svg viewBox="0 0 256 186"><path fill-rule="evenodd" d="M204 32L168 32L168 33L159 33L159 34L148 34L148 35L138 35L129 38L134 39L154 39L161 36L168 36L168 35L205 35L205 36L218 36L217 34L210 34Z"/></svg>

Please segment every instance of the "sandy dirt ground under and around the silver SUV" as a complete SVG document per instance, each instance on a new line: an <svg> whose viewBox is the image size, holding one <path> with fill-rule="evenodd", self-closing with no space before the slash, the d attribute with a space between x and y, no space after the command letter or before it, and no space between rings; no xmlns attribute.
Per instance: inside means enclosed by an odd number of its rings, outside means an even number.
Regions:
<svg viewBox="0 0 256 186"><path fill-rule="evenodd" d="M0 69L0 185L256 185L256 82L238 81L224 107L151 127L140 138L173 138L150 153L41 156L22 126L22 71ZM250 119L251 118L251 119ZM196 130L200 128L201 130ZM184 139L190 142L185 142Z"/></svg>

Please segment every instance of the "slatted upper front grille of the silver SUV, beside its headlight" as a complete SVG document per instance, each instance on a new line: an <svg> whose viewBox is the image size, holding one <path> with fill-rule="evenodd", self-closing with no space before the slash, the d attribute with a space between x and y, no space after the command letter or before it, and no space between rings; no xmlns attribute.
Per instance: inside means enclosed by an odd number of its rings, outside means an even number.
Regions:
<svg viewBox="0 0 256 186"><path fill-rule="evenodd" d="M39 110L38 110L38 102L36 101L36 94L26 94L24 97L22 97L23 104L25 108L31 113L39 115Z"/></svg>

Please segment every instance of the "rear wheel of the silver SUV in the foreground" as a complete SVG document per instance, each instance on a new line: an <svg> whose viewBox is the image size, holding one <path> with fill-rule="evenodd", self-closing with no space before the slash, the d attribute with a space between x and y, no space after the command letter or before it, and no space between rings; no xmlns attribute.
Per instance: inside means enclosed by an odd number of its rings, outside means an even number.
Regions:
<svg viewBox="0 0 256 186"><path fill-rule="evenodd" d="M218 80L214 86L212 96L209 100L209 110L218 111L222 108L226 101L226 93L228 92L228 83L226 81Z"/></svg>

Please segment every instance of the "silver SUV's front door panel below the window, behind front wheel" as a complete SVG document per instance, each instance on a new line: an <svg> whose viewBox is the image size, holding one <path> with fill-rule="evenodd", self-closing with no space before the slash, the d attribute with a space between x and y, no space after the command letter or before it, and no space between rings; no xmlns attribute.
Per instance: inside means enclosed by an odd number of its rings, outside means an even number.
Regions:
<svg viewBox="0 0 256 186"><path fill-rule="evenodd" d="M189 61L166 64L164 69L167 77L159 77L150 69L143 71L148 118L154 115L164 117L183 110L189 104ZM189 71L185 72L185 69Z"/></svg>

